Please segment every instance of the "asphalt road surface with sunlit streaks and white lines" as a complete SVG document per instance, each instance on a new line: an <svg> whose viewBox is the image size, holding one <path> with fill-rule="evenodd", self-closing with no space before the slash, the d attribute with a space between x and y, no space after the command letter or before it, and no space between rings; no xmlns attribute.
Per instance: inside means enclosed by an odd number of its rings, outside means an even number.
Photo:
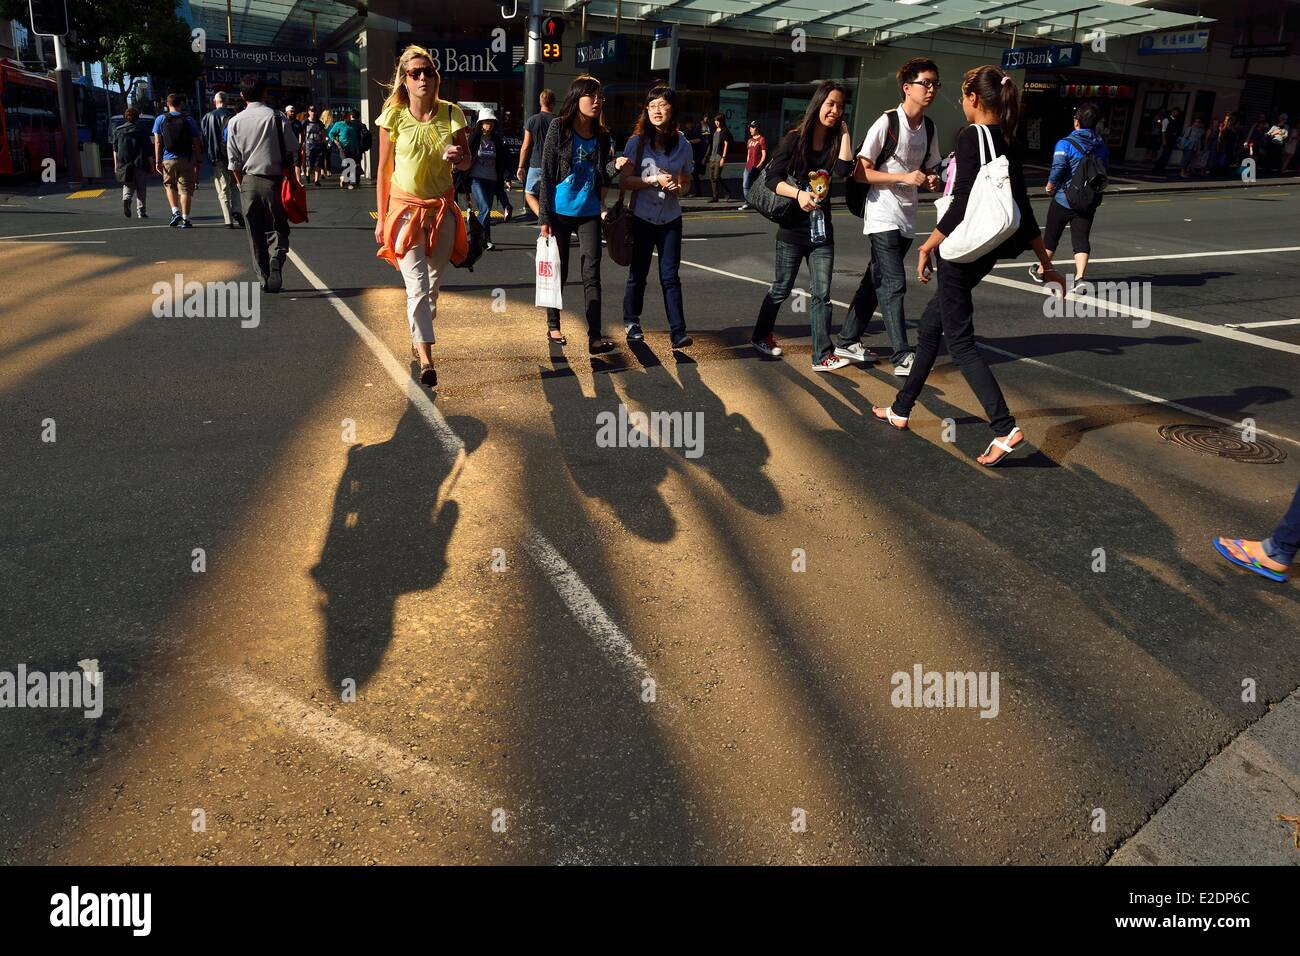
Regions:
<svg viewBox="0 0 1300 956"><path fill-rule="evenodd" d="M890 367L814 373L792 304L784 360L749 349L753 213L688 215L684 352L654 278L627 346L606 260L601 359L577 269L552 349L536 228L497 226L434 395L372 193L309 193L255 324L155 315L251 278L207 179L188 232L159 189L0 196L0 670L94 659L104 701L0 710L0 861L1104 862L1300 685L1295 587L1210 549L1300 479L1297 194L1108 199L1089 278L1149 282L1149 324L1000 265L976 330L1032 451L996 470L952 364L904 434ZM620 405L702 454L599 446ZM1158 432L1247 419L1286 460ZM997 697L896 706L916 667Z"/></svg>

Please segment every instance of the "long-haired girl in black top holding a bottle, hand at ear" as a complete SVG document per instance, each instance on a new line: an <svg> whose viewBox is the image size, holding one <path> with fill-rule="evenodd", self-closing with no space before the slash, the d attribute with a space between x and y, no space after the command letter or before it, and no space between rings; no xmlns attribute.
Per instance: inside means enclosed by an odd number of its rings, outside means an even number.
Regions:
<svg viewBox="0 0 1300 956"><path fill-rule="evenodd" d="M812 286L812 369L844 368L831 342L831 274L835 271L835 230L831 225L831 181L853 169L853 140L844 121L848 91L827 79L812 94L803 121L785 134L767 164L767 185L794 200L776 230L776 277L763 297L751 336L763 355L780 355L772 329L781 303L790 298L800 263L807 260ZM794 179L794 182L788 182Z"/></svg>

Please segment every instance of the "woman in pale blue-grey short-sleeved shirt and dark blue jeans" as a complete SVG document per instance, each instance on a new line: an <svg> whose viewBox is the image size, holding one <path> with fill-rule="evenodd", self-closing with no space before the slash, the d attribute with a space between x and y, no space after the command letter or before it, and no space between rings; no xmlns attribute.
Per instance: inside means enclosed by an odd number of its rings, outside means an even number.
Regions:
<svg viewBox="0 0 1300 956"><path fill-rule="evenodd" d="M632 190L632 265L623 294L623 324L629 342L645 338L641 308L646 298L650 258L659 252L659 286L673 349L690 345L686 317L681 307L681 190L690 182L694 160L690 143L677 131L676 94L656 86L646 94L645 109L636 133L628 138L623 159L620 189Z"/></svg>

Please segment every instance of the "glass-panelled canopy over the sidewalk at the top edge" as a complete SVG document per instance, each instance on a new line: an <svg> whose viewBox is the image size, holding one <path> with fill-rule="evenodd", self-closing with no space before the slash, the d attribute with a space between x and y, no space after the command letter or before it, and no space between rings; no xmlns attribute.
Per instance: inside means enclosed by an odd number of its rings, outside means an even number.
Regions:
<svg viewBox="0 0 1300 956"><path fill-rule="evenodd" d="M618 0L549 0L547 9L614 17ZM1205 17L1167 13L1136 3L1106 0L623 0L624 20L759 33L788 33L801 27L809 36L855 43L888 43L940 30L979 30L1034 40L1083 42L1097 29L1109 36L1171 30L1209 23ZM1076 20L1078 18L1078 20ZM1074 35L1078 27L1078 35Z"/></svg>

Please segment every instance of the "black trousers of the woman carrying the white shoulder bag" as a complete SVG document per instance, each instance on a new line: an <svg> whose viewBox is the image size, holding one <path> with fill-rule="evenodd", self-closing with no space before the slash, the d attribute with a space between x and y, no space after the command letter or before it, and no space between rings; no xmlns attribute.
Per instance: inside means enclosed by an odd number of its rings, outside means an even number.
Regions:
<svg viewBox="0 0 1300 956"><path fill-rule="evenodd" d="M916 358L913 360L911 373L907 381L898 390L893 401L894 415L907 418L916 403L916 397L926 385L930 371L935 367L935 358L939 355L939 339L948 342L948 351L953 356L958 368L962 369L967 385L984 406L993 428L993 434L1002 437L1015 428L1015 419L1011 418L1006 399L1002 398L1002 389L997 385L997 378L984 362L979 347L975 345L975 303L971 300L971 291L993 269L997 254L976 259L974 263L949 263L939 260L939 290L935 298L926 306L916 328Z"/></svg>

